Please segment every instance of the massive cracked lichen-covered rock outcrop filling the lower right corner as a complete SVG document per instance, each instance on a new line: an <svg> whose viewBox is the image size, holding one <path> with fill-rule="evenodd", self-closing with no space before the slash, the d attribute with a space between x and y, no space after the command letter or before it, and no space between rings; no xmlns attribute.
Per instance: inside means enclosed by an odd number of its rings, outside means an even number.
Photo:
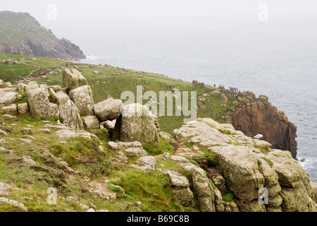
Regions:
<svg viewBox="0 0 317 226"><path fill-rule="evenodd" d="M183 145L208 148L205 155L213 156L197 160L205 171L186 160L181 164L186 172L193 174L201 210L235 211L235 205L240 211L251 212L317 210L313 201L316 186L290 152L272 149L265 141L260 149L253 138L239 131L234 132L239 135L230 135L220 127L212 119L197 119L173 132ZM195 150L188 148L187 152L195 153ZM211 186L206 174L216 188ZM262 188L268 191L268 203L259 202ZM232 200L221 201L219 192L232 193Z"/></svg>

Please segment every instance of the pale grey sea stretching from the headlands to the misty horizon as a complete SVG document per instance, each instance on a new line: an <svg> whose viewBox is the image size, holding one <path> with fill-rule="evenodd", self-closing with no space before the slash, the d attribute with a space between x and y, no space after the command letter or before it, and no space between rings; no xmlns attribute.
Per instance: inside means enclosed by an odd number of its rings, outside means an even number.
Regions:
<svg viewBox="0 0 317 226"><path fill-rule="evenodd" d="M192 18L85 24L89 64L163 73L267 95L297 126L297 157L317 182L317 20ZM70 29L70 28L69 28Z"/></svg>

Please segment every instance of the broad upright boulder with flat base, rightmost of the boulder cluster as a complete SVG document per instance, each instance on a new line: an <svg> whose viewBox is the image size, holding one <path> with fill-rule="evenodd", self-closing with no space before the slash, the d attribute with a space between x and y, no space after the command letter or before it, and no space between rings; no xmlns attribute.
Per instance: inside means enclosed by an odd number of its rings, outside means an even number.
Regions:
<svg viewBox="0 0 317 226"><path fill-rule="evenodd" d="M140 104L130 104L123 107L120 140L139 141L142 144L159 141L159 133L148 107Z"/></svg>

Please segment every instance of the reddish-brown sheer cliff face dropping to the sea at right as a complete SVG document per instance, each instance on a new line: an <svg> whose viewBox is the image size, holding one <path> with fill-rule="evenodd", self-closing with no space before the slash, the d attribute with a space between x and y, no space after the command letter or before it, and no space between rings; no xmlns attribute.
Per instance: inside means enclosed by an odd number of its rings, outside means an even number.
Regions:
<svg viewBox="0 0 317 226"><path fill-rule="evenodd" d="M244 132L245 135L253 137L260 133L264 141L273 144L273 148L290 150L292 157L296 157L297 127L271 103L251 102L239 107L230 117L230 122L235 129Z"/></svg>

